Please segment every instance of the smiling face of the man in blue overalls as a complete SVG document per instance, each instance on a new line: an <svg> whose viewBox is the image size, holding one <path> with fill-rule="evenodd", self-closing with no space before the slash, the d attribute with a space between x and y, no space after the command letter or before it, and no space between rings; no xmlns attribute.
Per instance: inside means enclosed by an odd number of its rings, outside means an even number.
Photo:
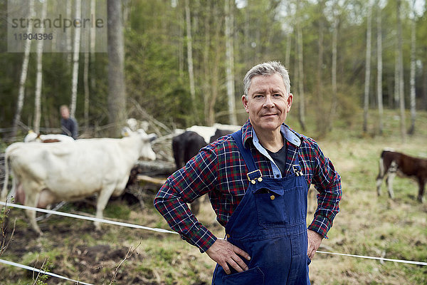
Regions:
<svg viewBox="0 0 427 285"><path fill-rule="evenodd" d="M288 94L282 76L254 76L248 97L242 96L246 113L255 131L277 130L285 122L292 105L292 94Z"/></svg>

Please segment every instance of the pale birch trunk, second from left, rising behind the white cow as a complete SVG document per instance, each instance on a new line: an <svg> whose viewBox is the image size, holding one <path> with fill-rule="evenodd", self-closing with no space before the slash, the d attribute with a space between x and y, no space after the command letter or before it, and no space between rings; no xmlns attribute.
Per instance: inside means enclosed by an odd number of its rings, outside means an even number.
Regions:
<svg viewBox="0 0 427 285"><path fill-rule="evenodd" d="M41 5L41 19L46 18L47 1ZM44 33L44 26L41 26L38 33ZM37 43L37 75L36 75L36 93L34 97L34 124L33 129L35 133L40 133L40 119L41 119L41 86L43 82L43 41Z"/></svg>

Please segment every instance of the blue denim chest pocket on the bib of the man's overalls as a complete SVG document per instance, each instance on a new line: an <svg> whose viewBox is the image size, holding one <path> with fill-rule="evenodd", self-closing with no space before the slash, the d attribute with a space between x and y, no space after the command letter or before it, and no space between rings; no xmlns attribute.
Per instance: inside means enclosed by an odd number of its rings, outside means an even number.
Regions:
<svg viewBox="0 0 427 285"><path fill-rule="evenodd" d="M265 229L290 226L305 219L302 187L254 190L258 224Z"/></svg>

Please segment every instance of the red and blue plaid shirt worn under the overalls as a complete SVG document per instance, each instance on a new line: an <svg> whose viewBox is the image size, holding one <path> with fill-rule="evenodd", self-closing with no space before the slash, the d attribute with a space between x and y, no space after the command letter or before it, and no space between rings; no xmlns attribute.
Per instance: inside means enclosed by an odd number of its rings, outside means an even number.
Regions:
<svg viewBox="0 0 427 285"><path fill-rule="evenodd" d="M335 215L339 212L341 177L315 140L295 133L287 125L283 125L282 129L284 128L287 129L286 133L291 133L294 138L300 140L300 145L296 147L307 186L313 184L319 191L315 217L308 229L326 237ZM271 160L262 155L253 144L256 135L253 134L249 120L243 125L242 133L243 144L251 147L255 165L263 177L274 177ZM287 146L291 141L286 138ZM287 155L292 154L288 151ZM288 159L295 160L292 156ZM284 173L283 177L292 172L292 167L287 166L286 169L287 173ZM182 239L205 252L214 244L216 237L196 219L186 203L208 194L216 212L216 219L225 227L248 188L247 173L248 168L236 142L231 135L226 135L202 148L184 167L174 172L154 198L154 207ZM277 175L277 172L275 173Z"/></svg>

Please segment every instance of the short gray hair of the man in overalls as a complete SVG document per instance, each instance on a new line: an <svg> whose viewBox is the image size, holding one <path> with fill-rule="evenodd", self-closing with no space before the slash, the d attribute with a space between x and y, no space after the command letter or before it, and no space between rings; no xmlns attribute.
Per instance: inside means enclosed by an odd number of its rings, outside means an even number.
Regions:
<svg viewBox="0 0 427 285"><path fill-rule="evenodd" d="M246 73L245 78L243 78L243 90L245 96L248 96L249 87L251 87L251 81L254 76L272 76L275 73L280 74L283 78L283 83L285 84L286 92L290 93L290 79L288 71L285 66L280 63L280 61L268 61L265 63L260 63L256 66L253 66L248 73Z"/></svg>

